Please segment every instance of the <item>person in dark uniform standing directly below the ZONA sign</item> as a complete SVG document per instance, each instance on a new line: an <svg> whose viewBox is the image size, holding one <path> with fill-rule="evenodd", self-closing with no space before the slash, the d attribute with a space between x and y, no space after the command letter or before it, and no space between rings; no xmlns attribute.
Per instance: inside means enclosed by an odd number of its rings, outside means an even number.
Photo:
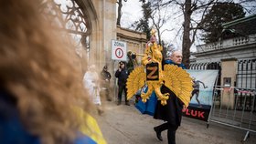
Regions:
<svg viewBox="0 0 256 144"><path fill-rule="evenodd" d="M128 78L128 70L125 68L125 63L123 61L119 62L119 68L115 72L115 77L118 78L118 103L121 104L122 101L122 93L124 90L125 95L125 105L130 106L129 101L127 100L127 88L126 81Z"/></svg>

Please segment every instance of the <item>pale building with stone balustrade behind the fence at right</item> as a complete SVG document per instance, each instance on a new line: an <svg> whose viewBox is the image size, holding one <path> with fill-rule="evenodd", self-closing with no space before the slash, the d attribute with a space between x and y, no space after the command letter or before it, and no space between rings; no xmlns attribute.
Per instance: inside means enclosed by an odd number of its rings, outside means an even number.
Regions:
<svg viewBox="0 0 256 144"><path fill-rule="evenodd" d="M232 31L235 37L219 40L216 43L209 43L197 46L197 52L192 55L196 61L190 65L190 69L219 69L224 70L224 63L230 64L235 76L231 79L232 87L256 88L255 65L256 65L256 15L240 18L223 25L224 32ZM223 66L225 65L225 67ZM219 67L218 67L219 66ZM245 76L245 71L248 74ZM241 75L243 73L243 76ZM225 74L225 71L221 73ZM254 75L253 75L254 74ZM224 77L220 79L224 85Z"/></svg>

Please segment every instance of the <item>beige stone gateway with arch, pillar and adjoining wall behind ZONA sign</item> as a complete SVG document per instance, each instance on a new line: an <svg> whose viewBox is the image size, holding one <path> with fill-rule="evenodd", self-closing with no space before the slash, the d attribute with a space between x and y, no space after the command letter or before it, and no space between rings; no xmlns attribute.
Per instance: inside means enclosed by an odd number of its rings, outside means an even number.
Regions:
<svg viewBox="0 0 256 144"><path fill-rule="evenodd" d="M102 67L108 66L114 76L118 61L112 60L112 40L126 42L127 51L144 53L147 41L144 33L116 26L116 0L46 0L42 8L58 25L56 29L68 31L73 39L70 43L74 47L70 48L80 59L74 65L80 67L82 73L90 65L95 65L99 73ZM113 77L112 86L114 82Z"/></svg>

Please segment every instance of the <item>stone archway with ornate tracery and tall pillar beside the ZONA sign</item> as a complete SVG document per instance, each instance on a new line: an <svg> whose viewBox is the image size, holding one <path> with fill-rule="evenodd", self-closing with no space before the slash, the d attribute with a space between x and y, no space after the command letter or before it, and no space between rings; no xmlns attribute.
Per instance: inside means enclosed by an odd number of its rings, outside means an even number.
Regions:
<svg viewBox="0 0 256 144"><path fill-rule="evenodd" d="M62 17L59 24L78 42L76 51L81 68L88 64L100 69L112 65L111 40L116 39L116 4L114 0L42 0L48 14ZM50 5L48 5L50 4ZM47 5L47 6L46 6ZM63 16L64 15L64 16ZM64 17L64 19L63 19Z"/></svg>

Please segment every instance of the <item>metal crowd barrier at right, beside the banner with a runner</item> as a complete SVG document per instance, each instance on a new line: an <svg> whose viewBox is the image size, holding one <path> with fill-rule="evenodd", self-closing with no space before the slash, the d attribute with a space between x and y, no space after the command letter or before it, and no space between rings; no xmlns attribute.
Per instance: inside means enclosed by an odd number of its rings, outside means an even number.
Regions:
<svg viewBox="0 0 256 144"><path fill-rule="evenodd" d="M218 92L221 97L219 100ZM234 91L237 91L236 93ZM242 96L242 99L240 99ZM220 102L219 102L220 101ZM252 103L249 104L249 101ZM208 118L209 122L216 122L236 129L246 130L242 142L245 142L250 132L256 133L256 89L243 87L215 87L213 105Z"/></svg>

